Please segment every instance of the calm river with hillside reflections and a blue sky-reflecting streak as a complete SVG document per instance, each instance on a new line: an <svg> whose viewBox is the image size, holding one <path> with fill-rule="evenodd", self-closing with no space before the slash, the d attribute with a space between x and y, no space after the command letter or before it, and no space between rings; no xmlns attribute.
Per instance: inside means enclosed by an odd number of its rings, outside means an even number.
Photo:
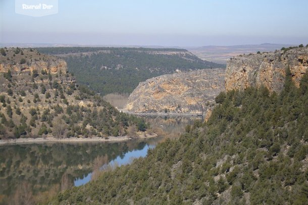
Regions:
<svg viewBox="0 0 308 205"><path fill-rule="evenodd" d="M103 169L145 157L166 138L177 138L197 118L145 117L157 138L117 143L0 146L0 204L44 203L59 191L95 180Z"/></svg>

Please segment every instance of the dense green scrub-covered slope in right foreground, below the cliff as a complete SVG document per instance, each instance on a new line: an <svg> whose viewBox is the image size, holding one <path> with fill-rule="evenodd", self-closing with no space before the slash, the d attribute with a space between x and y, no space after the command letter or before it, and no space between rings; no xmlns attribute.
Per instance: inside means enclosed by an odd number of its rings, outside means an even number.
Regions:
<svg viewBox="0 0 308 205"><path fill-rule="evenodd" d="M221 93L207 122L52 204L307 204L308 72L299 88L286 73L280 94Z"/></svg>

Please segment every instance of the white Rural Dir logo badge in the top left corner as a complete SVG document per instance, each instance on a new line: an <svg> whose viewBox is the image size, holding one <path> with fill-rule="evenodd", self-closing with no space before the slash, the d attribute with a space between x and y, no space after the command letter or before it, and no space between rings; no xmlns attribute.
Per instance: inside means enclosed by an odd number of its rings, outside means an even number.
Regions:
<svg viewBox="0 0 308 205"><path fill-rule="evenodd" d="M58 13L58 0L15 0L15 13L42 17Z"/></svg>

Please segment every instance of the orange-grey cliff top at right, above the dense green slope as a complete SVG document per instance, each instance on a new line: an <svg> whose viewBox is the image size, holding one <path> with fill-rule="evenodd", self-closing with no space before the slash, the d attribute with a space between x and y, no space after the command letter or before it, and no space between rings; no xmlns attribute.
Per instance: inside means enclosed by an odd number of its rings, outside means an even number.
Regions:
<svg viewBox="0 0 308 205"><path fill-rule="evenodd" d="M226 90L266 86L271 92L280 92L289 66L292 80L298 87L308 67L308 48L287 51L240 55L227 61Z"/></svg>

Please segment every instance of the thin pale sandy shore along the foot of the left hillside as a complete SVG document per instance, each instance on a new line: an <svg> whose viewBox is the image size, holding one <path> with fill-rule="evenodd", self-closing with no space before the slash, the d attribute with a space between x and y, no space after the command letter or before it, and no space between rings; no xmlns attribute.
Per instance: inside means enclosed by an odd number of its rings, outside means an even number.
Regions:
<svg viewBox="0 0 308 205"><path fill-rule="evenodd" d="M58 139L54 136L46 136L45 138L19 138L10 140L0 140L1 145L9 144L36 144L36 143L79 143L79 142L121 142L129 140L147 139L158 136L156 133L139 133L135 138L129 136L110 136L108 139L98 138L63 138Z"/></svg>

